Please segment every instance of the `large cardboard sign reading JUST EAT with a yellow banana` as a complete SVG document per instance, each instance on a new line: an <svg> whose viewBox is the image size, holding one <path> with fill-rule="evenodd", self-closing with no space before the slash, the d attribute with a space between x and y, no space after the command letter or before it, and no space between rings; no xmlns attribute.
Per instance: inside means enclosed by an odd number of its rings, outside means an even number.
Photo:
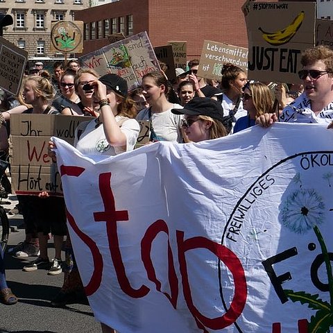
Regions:
<svg viewBox="0 0 333 333"><path fill-rule="evenodd" d="M251 1L244 14L248 29L248 78L299 83L300 53L314 46L316 3Z"/></svg>

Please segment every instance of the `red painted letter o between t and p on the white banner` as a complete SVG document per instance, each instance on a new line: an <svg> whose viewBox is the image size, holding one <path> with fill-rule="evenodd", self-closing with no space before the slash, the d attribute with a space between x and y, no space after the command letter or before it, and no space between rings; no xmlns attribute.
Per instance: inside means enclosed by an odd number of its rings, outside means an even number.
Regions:
<svg viewBox="0 0 333 333"><path fill-rule="evenodd" d="M178 278L175 266L173 265L173 255L169 242L168 226L167 223L165 223L163 220L155 221L155 223L153 223L146 230L146 233L144 234L144 237L141 241L142 262L144 263L144 268L146 268L148 279L154 282L156 285L156 290L161 292L161 282L157 280L153 262L151 261L151 246L153 244L153 240L160 232L165 232L168 235L168 277L171 296L169 295L169 293L164 293L164 295L167 296L167 298L171 302L171 305L176 309L178 299Z"/></svg>

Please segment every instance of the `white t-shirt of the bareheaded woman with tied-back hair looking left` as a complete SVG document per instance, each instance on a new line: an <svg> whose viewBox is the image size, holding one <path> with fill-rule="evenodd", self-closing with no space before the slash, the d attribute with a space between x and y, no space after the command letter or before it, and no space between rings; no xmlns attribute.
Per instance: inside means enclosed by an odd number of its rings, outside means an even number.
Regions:
<svg viewBox="0 0 333 333"><path fill-rule="evenodd" d="M179 104L173 104L173 109L182 109ZM151 114L149 119L149 108L141 110L137 114L137 120L150 120L158 141L182 142L180 133L180 120L183 115L173 114L171 109Z"/></svg>

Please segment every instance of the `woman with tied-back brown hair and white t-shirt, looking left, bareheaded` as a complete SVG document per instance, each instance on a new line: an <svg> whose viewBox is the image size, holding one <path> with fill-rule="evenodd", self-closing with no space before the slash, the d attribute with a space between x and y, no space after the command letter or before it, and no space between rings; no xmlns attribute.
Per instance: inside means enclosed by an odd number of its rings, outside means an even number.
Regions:
<svg viewBox="0 0 333 333"><path fill-rule="evenodd" d="M151 121L151 142L182 142L180 133L180 115L172 114L171 109L182 108L167 99L169 84L164 75L152 71L142 78L143 94L150 107L137 114L137 120Z"/></svg>

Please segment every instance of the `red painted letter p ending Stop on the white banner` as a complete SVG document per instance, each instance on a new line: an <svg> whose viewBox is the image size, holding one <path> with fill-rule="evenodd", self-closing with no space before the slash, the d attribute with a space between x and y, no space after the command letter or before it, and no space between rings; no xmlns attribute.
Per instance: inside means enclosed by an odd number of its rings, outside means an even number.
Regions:
<svg viewBox="0 0 333 333"><path fill-rule="evenodd" d="M180 274L182 275L182 289L184 297L187 302L189 311L196 319L196 323L199 328L205 330L205 327L209 327L212 330L222 330L234 323L241 315L247 297L247 286L244 268L241 266L241 262L231 250L221 244L217 244L205 237L193 237L184 241L184 232L176 231L177 244L178 244L178 260L180 266ZM207 318L203 314L200 314L198 309L194 306L191 297L191 287L189 285L189 277L187 274L187 264L185 253L188 250L195 250L196 248L207 248L210 252L214 253L221 262L228 267L232 273L234 279L234 298L232 299L230 308L223 316L217 318Z"/></svg>

